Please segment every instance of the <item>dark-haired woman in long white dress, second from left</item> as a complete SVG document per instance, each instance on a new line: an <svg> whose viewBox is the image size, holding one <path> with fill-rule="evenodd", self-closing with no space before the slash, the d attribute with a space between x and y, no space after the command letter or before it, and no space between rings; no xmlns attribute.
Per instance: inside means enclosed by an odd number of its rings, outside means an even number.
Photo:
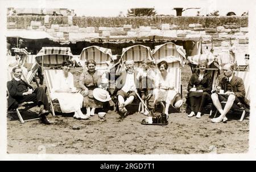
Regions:
<svg viewBox="0 0 256 172"><path fill-rule="evenodd" d="M69 72L71 67L71 61L63 62L63 72L55 75L55 84L53 84L51 97L53 100L57 98L63 113L75 112L74 118L88 119L81 111L84 97L74 87L73 75Z"/></svg>

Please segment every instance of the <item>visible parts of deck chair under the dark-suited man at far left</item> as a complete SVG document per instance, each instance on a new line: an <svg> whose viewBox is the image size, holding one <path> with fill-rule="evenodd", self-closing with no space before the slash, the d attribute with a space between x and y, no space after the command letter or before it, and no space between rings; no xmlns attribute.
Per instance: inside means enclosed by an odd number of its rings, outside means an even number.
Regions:
<svg viewBox="0 0 256 172"><path fill-rule="evenodd" d="M23 78L24 78L24 76L23 76ZM7 72L7 80L10 81L11 79L13 79L13 75L10 72ZM7 90L7 97L8 96L9 96L9 92ZM21 123L24 123L24 122L27 122L27 121L32 121L32 120L37 120L37 119L40 119L40 118L33 118L33 119L24 120L22 118L22 115L21 115L22 111L27 111L27 110L29 110L31 108L34 108L37 105L38 104L35 103L35 102L23 102L22 104L18 105L18 108L10 110L7 113L9 113L9 114L16 113L18 115L19 121Z"/></svg>

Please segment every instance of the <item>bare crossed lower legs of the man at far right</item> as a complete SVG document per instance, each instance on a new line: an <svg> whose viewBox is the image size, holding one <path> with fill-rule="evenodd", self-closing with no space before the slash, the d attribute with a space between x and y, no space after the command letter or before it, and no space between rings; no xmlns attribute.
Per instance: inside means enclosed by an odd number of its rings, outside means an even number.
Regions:
<svg viewBox="0 0 256 172"><path fill-rule="evenodd" d="M217 93L213 93L211 95L211 97L212 97L212 101L213 101L214 106L217 108L217 110L221 114L220 117L213 118L212 122L221 122L221 121L224 121L224 118L225 118L225 121L226 121L226 114L232 108L232 105L234 103L234 100L236 99L236 96L234 96L233 94L229 95L228 100L226 101L226 105L225 105L224 109L222 109L222 107L221 107L221 103L220 103L220 100L218 100L218 94Z"/></svg>

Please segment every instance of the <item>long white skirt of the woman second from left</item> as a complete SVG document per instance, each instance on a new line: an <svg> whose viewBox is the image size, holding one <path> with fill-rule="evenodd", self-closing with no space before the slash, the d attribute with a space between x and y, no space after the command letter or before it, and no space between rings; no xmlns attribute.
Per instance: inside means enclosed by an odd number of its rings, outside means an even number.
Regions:
<svg viewBox="0 0 256 172"><path fill-rule="evenodd" d="M72 113L82 108L84 97L80 93L55 93L63 113Z"/></svg>

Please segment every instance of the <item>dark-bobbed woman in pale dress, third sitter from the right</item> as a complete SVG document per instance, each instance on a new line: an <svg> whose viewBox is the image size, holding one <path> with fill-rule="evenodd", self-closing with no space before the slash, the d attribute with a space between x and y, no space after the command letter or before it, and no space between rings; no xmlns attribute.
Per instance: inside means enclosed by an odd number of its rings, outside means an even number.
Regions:
<svg viewBox="0 0 256 172"><path fill-rule="evenodd" d="M167 72L168 63L166 61L159 62L158 69L159 73L155 77L154 104L162 101L166 102L164 114L167 115L168 119L170 104L174 106L174 108L180 108L183 101L180 93L175 88L171 74Z"/></svg>

